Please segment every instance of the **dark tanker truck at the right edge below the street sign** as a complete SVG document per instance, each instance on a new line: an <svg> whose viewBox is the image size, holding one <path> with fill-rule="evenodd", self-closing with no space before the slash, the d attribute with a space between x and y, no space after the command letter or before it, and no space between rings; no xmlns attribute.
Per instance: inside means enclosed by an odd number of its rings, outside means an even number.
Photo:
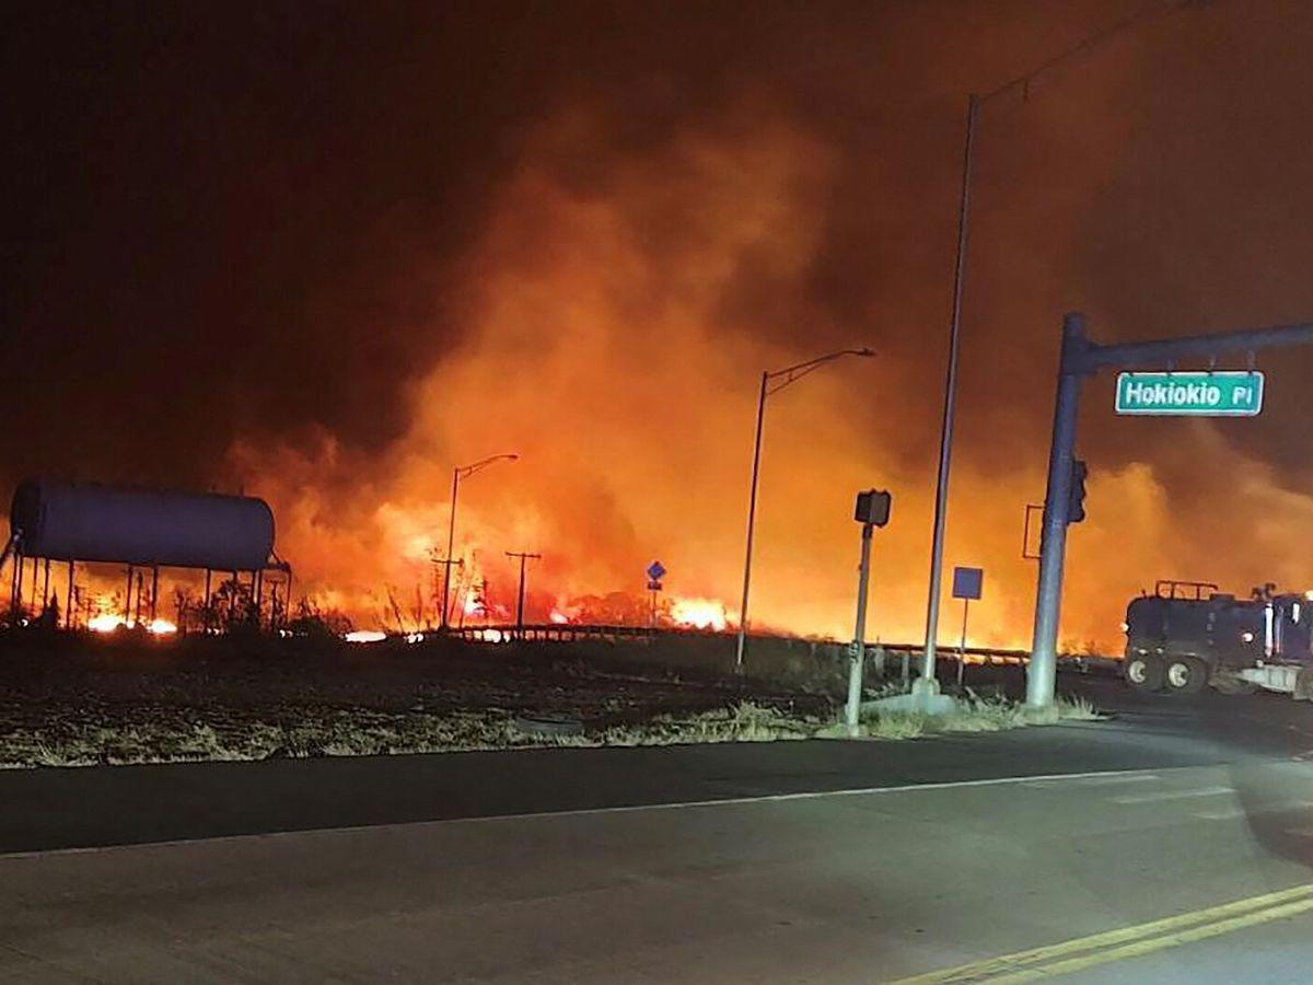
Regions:
<svg viewBox="0 0 1313 985"><path fill-rule="evenodd" d="M1140 691L1313 700L1313 592L1264 584L1237 598L1211 582L1161 580L1130 602L1123 629L1123 674Z"/></svg>

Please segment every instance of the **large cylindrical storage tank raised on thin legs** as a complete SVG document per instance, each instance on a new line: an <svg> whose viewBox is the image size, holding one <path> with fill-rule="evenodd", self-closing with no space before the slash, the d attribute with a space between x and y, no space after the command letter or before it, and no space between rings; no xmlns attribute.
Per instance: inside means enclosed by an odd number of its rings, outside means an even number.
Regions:
<svg viewBox="0 0 1313 985"><path fill-rule="evenodd" d="M163 567L261 569L273 550L263 499L26 479L11 531L28 557Z"/></svg>

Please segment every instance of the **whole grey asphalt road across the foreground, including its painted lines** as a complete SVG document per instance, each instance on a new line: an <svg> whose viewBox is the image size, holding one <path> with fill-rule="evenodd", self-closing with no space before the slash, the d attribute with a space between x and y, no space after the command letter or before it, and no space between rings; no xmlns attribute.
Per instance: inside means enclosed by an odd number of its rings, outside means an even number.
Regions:
<svg viewBox="0 0 1313 985"><path fill-rule="evenodd" d="M1306 981L1313 707L1077 686L1119 717L3 774L0 980Z"/></svg>

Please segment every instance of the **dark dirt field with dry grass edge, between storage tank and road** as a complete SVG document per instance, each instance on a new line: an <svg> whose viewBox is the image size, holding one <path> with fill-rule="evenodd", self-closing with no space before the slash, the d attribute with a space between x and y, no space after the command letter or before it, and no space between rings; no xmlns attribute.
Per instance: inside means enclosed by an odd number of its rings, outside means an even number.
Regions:
<svg viewBox="0 0 1313 985"><path fill-rule="evenodd" d="M637 742L676 725L709 739L767 738L832 716L825 696L645 666L632 654L620 662L607 649L9 632L0 636L0 764Z"/></svg>

